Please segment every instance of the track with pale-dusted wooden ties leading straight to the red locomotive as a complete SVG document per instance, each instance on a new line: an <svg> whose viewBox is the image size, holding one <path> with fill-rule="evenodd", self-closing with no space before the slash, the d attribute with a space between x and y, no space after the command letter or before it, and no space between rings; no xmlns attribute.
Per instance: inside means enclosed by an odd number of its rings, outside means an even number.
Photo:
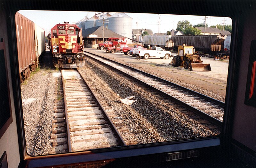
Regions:
<svg viewBox="0 0 256 168"><path fill-rule="evenodd" d="M126 145L80 74L75 69L61 74L68 152Z"/></svg>

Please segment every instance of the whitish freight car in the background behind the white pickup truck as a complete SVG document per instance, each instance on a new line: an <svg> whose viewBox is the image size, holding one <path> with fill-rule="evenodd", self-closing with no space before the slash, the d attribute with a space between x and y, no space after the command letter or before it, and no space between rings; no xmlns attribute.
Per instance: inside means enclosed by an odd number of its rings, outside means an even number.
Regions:
<svg viewBox="0 0 256 168"><path fill-rule="evenodd" d="M142 37L144 44L148 46L159 46L162 48L171 48L173 47L172 36L171 35L148 35Z"/></svg>

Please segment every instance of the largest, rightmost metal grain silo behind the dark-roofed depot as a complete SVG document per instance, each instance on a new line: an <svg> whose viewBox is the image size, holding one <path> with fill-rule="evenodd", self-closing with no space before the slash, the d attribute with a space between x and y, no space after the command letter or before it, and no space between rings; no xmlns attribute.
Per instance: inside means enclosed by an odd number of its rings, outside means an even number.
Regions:
<svg viewBox="0 0 256 168"><path fill-rule="evenodd" d="M132 39L132 18L125 13L115 13L108 17L108 29Z"/></svg>

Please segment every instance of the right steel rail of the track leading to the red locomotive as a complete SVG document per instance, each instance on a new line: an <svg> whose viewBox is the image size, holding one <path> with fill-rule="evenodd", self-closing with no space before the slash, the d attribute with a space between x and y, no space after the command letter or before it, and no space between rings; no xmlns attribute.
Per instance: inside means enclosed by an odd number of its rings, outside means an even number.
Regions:
<svg viewBox="0 0 256 168"><path fill-rule="evenodd" d="M90 86L86 83L84 77L81 75L81 73L79 72L78 69L76 69L77 72L80 74L81 78L84 81L84 84L86 85L86 87L88 88L88 90L90 91L90 93L92 94L92 97L96 100L96 103L98 104L98 106L100 107L100 110L103 112L103 115L105 116L105 119L108 121L109 126L112 128L112 130L114 131L114 134L116 135L116 138L118 139L118 141L120 142L120 145L124 145L126 146L127 144L124 142L124 139L122 138L122 136L119 134L118 130L116 129L114 123L111 121L111 119L108 117L107 112L105 111L104 107L101 105L99 99L95 96L94 92L92 91L92 89L90 88Z"/></svg>

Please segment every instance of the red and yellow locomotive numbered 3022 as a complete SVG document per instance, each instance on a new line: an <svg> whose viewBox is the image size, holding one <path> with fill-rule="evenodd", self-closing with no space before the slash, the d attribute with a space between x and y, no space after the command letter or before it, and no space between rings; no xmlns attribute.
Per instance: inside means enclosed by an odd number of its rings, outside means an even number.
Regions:
<svg viewBox="0 0 256 168"><path fill-rule="evenodd" d="M75 24L63 22L52 27L48 38L54 67L79 68L84 66L82 29ZM54 43L58 46L56 53L53 52Z"/></svg>

